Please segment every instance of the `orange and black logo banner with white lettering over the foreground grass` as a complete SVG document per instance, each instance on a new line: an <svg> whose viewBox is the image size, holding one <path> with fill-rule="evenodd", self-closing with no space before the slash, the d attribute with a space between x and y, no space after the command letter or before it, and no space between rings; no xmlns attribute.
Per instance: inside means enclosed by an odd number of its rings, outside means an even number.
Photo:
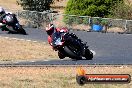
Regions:
<svg viewBox="0 0 132 88"><path fill-rule="evenodd" d="M76 75L79 85L86 83L130 83L129 74L86 74L84 69L79 68Z"/></svg>

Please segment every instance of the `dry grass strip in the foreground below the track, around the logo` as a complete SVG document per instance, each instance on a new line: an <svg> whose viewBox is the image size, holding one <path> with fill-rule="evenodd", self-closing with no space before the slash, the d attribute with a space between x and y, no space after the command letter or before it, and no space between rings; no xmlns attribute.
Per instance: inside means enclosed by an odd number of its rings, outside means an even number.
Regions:
<svg viewBox="0 0 132 88"><path fill-rule="evenodd" d="M0 88L131 88L129 84L76 83L77 67L0 68ZM84 67L88 74L130 74L132 67Z"/></svg>

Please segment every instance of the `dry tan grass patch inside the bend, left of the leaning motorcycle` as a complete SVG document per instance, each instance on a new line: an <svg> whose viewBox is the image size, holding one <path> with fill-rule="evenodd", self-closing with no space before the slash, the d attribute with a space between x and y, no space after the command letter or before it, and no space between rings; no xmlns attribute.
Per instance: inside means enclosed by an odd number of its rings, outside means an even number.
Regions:
<svg viewBox="0 0 132 88"><path fill-rule="evenodd" d="M0 61L58 58L47 43L33 43L0 37Z"/></svg>

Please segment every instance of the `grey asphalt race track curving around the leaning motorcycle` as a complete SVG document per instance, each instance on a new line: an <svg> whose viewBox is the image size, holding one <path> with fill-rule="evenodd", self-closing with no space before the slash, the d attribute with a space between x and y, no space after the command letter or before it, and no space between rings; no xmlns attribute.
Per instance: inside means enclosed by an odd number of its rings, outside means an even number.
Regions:
<svg viewBox="0 0 132 88"><path fill-rule="evenodd" d="M32 41L45 42L47 34L44 30L26 28L29 35L7 34L0 31L0 36L20 38ZM132 64L132 34L101 33L86 31L74 32L84 42L87 42L89 49L95 51L93 60L71 60L66 58L60 60L19 61L8 63L14 65L87 65L87 64ZM1 64L2 65L2 64Z"/></svg>

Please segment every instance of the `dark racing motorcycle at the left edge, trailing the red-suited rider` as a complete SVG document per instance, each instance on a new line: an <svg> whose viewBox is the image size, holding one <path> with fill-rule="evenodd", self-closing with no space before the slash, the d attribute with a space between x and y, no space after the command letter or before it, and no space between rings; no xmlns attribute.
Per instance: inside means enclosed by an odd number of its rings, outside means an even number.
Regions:
<svg viewBox="0 0 132 88"><path fill-rule="evenodd" d="M19 24L15 14L6 14L3 18L2 31L8 31L8 34L24 34L27 35L26 31Z"/></svg>

